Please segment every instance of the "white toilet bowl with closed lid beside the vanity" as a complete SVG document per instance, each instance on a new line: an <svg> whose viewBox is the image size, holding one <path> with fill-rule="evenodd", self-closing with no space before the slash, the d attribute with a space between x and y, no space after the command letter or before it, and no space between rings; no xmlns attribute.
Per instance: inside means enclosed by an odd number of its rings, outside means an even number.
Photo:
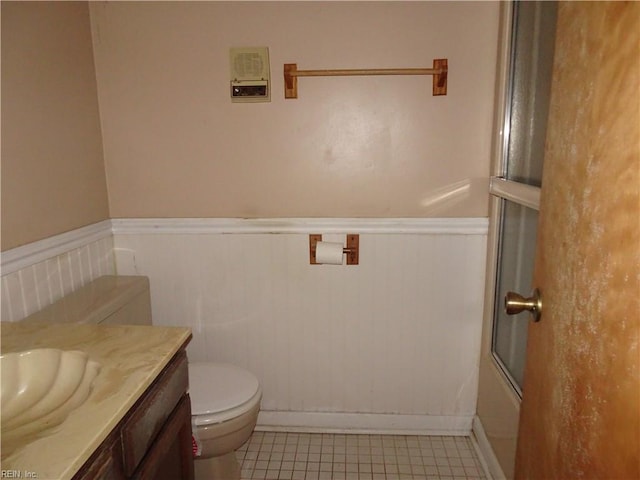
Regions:
<svg viewBox="0 0 640 480"><path fill-rule="evenodd" d="M189 363L191 424L201 446L196 480L235 480L235 450L251 436L258 420L262 389L250 372L226 363Z"/></svg>

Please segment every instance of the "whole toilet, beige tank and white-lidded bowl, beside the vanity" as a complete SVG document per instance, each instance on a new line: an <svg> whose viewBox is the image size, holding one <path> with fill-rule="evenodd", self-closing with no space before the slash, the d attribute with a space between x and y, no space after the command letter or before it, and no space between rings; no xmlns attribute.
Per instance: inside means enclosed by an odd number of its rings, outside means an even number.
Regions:
<svg viewBox="0 0 640 480"><path fill-rule="evenodd" d="M23 321L151 325L149 279L104 276ZM189 363L191 425L200 455L196 480L236 480L235 450L256 426L262 389L258 379L227 363Z"/></svg>

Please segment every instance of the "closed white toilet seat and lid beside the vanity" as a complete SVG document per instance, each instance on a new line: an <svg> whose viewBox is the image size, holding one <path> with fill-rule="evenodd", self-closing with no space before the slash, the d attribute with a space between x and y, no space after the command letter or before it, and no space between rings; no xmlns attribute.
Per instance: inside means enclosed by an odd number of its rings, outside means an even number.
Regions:
<svg viewBox="0 0 640 480"><path fill-rule="evenodd" d="M260 403L262 389L250 372L226 363L189 363L191 415L196 426L221 423Z"/></svg>

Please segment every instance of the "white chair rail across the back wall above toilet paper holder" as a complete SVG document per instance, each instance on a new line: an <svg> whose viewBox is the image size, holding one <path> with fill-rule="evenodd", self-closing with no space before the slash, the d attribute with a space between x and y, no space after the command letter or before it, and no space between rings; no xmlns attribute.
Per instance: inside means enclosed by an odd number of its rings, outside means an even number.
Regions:
<svg viewBox="0 0 640 480"><path fill-rule="evenodd" d="M115 218L115 235L361 233L486 235L487 218Z"/></svg>

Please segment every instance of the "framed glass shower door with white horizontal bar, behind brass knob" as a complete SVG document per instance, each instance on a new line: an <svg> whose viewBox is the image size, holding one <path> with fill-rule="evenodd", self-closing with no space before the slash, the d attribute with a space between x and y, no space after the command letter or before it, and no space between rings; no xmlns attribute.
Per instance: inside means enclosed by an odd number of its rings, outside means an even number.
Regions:
<svg viewBox="0 0 640 480"><path fill-rule="evenodd" d="M508 316L503 299L508 291L532 290L556 4L516 2L512 22L503 174L492 179L490 190L500 199L492 355L522 396L529 314Z"/></svg>

